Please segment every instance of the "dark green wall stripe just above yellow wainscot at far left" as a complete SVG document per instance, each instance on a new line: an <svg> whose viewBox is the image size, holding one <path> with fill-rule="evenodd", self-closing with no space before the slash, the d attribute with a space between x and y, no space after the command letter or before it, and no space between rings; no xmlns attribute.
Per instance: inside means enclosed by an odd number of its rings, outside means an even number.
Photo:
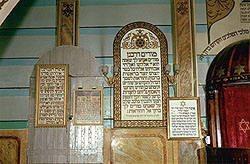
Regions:
<svg viewBox="0 0 250 164"><path fill-rule="evenodd" d="M28 120L6 120L0 121L0 129L26 129Z"/></svg>

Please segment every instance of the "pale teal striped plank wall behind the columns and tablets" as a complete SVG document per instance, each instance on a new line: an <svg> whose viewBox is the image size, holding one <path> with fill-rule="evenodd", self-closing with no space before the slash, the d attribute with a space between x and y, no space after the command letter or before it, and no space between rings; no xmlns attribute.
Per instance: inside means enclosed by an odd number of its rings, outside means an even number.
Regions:
<svg viewBox="0 0 250 164"><path fill-rule="evenodd" d="M112 65L116 33L134 21L157 25L167 37L169 63L173 62L170 0L80 0L80 47L101 64ZM202 118L206 119L204 91L212 57L199 58L207 44L205 0L194 1L196 53ZM0 129L23 128L28 119L29 77L40 55L56 45L56 0L22 0L0 27ZM173 88L170 88L173 90ZM172 93L173 91L171 91ZM104 88L104 121L112 124L112 89ZM19 121L20 120L20 121Z"/></svg>

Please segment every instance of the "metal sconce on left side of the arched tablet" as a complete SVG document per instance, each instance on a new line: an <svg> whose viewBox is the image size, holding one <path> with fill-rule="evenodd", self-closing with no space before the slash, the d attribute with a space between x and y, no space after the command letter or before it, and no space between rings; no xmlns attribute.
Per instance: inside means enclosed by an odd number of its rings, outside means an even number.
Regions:
<svg viewBox="0 0 250 164"><path fill-rule="evenodd" d="M102 75L104 76L105 81L107 82L107 84L109 86L112 86L114 84L114 80L115 80L116 76L118 75L118 68L113 67L113 76L108 76L108 74L109 74L109 66L107 66L107 65L100 66L100 71L101 71Z"/></svg>

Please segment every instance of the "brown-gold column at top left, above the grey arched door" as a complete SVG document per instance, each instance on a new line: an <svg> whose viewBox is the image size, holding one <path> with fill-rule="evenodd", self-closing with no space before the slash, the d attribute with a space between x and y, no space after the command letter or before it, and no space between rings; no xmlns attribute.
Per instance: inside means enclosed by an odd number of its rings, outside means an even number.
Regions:
<svg viewBox="0 0 250 164"><path fill-rule="evenodd" d="M78 45L79 0L57 0L57 46Z"/></svg>

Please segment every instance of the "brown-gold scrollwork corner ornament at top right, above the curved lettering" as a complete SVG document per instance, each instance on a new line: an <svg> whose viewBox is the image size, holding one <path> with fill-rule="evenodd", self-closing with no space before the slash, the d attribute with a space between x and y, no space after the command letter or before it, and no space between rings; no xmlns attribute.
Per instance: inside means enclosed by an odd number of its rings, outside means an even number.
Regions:
<svg viewBox="0 0 250 164"><path fill-rule="evenodd" d="M234 0L207 0L208 28L225 18L234 8Z"/></svg>

